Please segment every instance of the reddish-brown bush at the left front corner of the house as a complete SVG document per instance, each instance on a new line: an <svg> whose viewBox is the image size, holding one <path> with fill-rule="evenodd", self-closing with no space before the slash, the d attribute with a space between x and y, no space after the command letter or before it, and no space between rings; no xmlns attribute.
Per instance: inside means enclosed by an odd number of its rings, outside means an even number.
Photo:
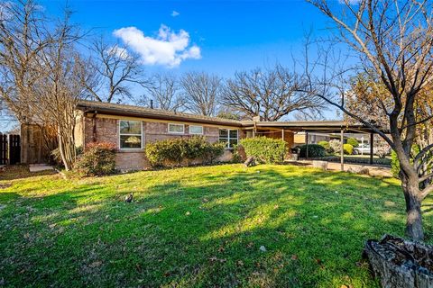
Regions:
<svg viewBox="0 0 433 288"><path fill-rule="evenodd" d="M75 170L78 175L110 175L115 173L115 145L107 142L89 143L78 157Z"/></svg>

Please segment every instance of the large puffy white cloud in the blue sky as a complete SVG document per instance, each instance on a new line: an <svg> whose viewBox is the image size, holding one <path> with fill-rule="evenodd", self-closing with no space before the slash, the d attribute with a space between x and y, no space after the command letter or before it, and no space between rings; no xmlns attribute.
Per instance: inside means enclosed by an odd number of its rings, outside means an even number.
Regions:
<svg viewBox="0 0 433 288"><path fill-rule="evenodd" d="M200 48L189 45L189 33L184 30L171 31L161 25L158 34L150 37L136 27L125 27L115 30L113 34L138 53L145 65L177 67L188 58L201 58Z"/></svg>

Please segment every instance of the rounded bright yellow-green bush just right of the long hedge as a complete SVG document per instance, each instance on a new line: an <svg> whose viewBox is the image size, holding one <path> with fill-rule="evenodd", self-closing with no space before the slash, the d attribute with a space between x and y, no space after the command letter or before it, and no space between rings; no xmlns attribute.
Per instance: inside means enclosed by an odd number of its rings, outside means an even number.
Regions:
<svg viewBox="0 0 433 288"><path fill-rule="evenodd" d="M261 163L281 163L286 154L286 142L283 139L254 137L240 140L247 157L253 156Z"/></svg>

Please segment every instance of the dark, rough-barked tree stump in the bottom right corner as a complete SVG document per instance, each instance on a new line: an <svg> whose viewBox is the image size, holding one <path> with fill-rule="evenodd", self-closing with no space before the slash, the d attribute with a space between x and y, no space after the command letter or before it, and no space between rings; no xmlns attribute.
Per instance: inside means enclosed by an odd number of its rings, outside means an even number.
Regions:
<svg viewBox="0 0 433 288"><path fill-rule="evenodd" d="M366 256L383 288L433 287L433 247L385 235L368 240Z"/></svg>

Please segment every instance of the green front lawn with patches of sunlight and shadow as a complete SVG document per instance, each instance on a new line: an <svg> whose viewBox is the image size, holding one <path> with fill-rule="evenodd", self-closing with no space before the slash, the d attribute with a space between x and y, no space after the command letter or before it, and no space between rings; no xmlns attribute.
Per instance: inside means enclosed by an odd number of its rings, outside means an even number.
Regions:
<svg viewBox="0 0 433 288"><path fill-rule="evenodd" d="M364 240L404 229L395 179L298 166L82 180L17 170L0 175L5 286L375 287Z"/></svg>

